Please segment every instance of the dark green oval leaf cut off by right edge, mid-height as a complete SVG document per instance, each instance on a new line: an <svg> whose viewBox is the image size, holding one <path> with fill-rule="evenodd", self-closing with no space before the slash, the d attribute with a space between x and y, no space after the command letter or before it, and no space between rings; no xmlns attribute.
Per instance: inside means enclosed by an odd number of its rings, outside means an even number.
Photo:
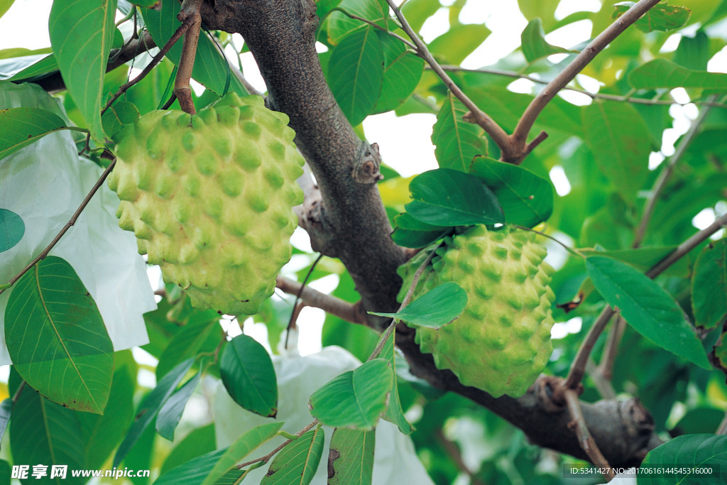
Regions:
<svg viewBox="0 0 727 485"><path fill-rule="evenodd" d="M713 329L727 319L727 239L704 249L691 278L694 324Z"/></svg>

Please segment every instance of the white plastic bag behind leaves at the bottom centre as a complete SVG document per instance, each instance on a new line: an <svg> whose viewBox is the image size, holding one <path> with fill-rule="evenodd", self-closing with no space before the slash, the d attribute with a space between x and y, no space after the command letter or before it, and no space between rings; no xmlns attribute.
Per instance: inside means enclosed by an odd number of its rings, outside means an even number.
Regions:
<svg viewBox="0 0 727 485"><path fill-rule="evenodd" d="M262 417L242 409L228 396L222 382L218 383L214 398L214 431L218 448L230 446L245 431L273 420L285 422L283 429L289 433L296 433L305 428L305 425L313 421L308 411L310 394L338 374L356 369L361 362L348 350L331 346L310 356L273 356L273 364L278 378L276 418ZM316 476L310 482L312 485L325 485L328 478L326 462L333 429L324 426L324 430L326 444ZM274 438L256 449L254 456L248 457L249 460L268 454L283 441L284 438ZM260 483L267 471L268 465L253 470L246 476L245 481L251 484ZM384 420L379 420L376 428L373 483L433 485L433 481L417 457L411 438L404 436L395 425Z"/></svg>

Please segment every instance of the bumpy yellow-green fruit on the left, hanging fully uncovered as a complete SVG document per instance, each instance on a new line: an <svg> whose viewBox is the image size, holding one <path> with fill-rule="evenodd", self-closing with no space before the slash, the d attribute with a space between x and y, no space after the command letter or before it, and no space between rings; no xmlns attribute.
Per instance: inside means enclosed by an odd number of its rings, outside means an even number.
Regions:
<svg viewBox="0 0 727 485"><path fill-rule="evenodd" d="M196 308L252 315L273 294L302 203L287 123L262 97L230 93L193 116L152 111L115 136L119 225Z"/></svg>

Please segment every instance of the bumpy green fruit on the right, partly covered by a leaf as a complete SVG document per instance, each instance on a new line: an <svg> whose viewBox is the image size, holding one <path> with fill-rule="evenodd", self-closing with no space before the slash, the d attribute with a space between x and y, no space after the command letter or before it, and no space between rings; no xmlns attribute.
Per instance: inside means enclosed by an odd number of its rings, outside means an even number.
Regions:
<svg viewBox="0 0 727 485"><path fill-rule="evenodd" d="M521 396L545 367L553 345L550 289L553 268L534 233L475 226L448 238L438 249L414 297L446 281L467 291L467 308L438 330L417 328L422 352L431 353L438 369L450 369L459 382L490 393ZM406 294L428 252L399 268Z"/></svg>

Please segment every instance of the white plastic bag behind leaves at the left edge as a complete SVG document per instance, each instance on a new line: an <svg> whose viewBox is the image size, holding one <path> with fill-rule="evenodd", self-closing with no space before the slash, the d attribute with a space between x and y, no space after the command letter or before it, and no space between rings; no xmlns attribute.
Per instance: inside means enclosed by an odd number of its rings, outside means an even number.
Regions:
<svg viewBox="0 0 727 485"><path fill-rule="evenodd" d="M68 123L60 103L35 84L0 81L0 109L42 108ZM0 209L25 224L23 238L0 252L0 284L7 283L68 223L103 170L80 158L71 132L47 135L0 160ZM114 350L148 342L142 313L154 310L146 265L134 235L119 228L119 199L105 184L50 254L68 261L92 295ZM0 365L11 364L4 314L12 289L0 294Z"/></svg>

